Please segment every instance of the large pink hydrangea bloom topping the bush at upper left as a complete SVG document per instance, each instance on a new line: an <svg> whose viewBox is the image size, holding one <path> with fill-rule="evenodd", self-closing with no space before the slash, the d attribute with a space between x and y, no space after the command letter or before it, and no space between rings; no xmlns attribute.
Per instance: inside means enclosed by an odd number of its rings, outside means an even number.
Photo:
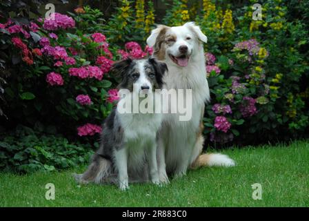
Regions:
<svg viewBox="0 0 309 221"><path fill-rule="evenodd" d="M61 15L60 13L52 13L50 17L44 20L43 28L46 30L58 30L66 28L74 28L75 21L72 17Z"/></svg>

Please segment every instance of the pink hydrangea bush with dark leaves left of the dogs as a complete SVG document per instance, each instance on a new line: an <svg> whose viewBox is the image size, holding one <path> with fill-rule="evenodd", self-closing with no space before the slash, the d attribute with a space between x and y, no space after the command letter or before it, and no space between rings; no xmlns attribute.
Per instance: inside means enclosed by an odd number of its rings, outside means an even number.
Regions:
<svg viewBox="0 0 309 221"><path fill-rule="evenodd" d="M90 16L92 10L85 8L85 13ZM1 37L14 46L10 56L21 56L14 68L22 71L10 77L5 90L10 108L23 113L8 113L10 122L42 121L80 136L99 133L99 126L91 123L101 124L117 100L108 93L117 83L108 75L113 56L106 36L80 32L78 18L54 13L30 26L10 19L3 24Z"/></svg>

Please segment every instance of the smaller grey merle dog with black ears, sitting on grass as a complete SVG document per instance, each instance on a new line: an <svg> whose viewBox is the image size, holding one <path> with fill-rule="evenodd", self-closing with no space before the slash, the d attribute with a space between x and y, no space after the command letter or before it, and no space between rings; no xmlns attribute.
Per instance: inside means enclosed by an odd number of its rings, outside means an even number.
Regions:
<svg viewBox="0 0 309 221"><path fill-rule="evenodd" d="M132 96L157 93L163 86L166 64L149 59L118 61L112 73L121 77L118 88ZM148 97L148 96L145 96ZM117 106L119 105L118 102ZM99 149L92 156L88 169L75 178L79 183L118 183L121 190L130 182L159 184L157 169L157 131L161 127L159 113L119 113L114 108L103 123Z"/></svg>

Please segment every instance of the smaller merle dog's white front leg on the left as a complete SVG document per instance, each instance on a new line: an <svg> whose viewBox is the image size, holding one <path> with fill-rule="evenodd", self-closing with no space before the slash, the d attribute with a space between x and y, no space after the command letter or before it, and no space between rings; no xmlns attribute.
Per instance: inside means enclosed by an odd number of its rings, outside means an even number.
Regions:
<svg viewBox="0 0 309 221"><path fill-rule="evenodd" d="M114 157L118 169L119 188L123 191L129 188L128 177L128 148L123 146L114 152Z"/></svg>

